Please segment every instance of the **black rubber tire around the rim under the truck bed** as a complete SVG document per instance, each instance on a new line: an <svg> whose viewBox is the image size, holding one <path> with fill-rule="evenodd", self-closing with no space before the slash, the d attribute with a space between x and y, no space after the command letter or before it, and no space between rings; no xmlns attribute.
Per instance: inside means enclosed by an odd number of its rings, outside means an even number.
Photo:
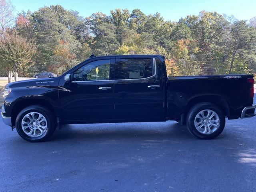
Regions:
<svg viewBox="0 0 256 192"><path fill-rule="evenodd" d="M202 134L201 132L199 132L196 129L196 126L194 123L196 115L200 111L206 110L206 109L216 112L216 114L219 116L219 119L220 119L220 126L218 127L218 129L215 132L210 133L210 134ZM212 104L212 103L202 102L202 103L198 103L198 104L194 105L192 108L190 108L190 110L187 114L186 122L187 122L188 131L193 136L200 138L200 139L213 139L222 133L222 131L225 127L226 120L225 120L224 112L218 106L216 106L215 104Z"/></svg>

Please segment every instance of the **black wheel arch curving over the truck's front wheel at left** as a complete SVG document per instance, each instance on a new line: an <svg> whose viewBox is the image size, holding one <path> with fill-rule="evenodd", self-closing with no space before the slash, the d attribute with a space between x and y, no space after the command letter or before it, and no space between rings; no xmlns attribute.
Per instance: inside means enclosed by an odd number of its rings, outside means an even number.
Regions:
<svg viewBox="0 0 256 192"><path fill-rule="evenodd" d="M11 112L11 117L12 117L12 125L15 125L15 121L16 118L19 114L19 112L31 105L40 105L43 106L45 108L48 108L50 111L52 111L52 113L54 114L54 118L57 118L57 114L56 114L56 110L54 110L54 107L52 106L52 104L44 99L40 99L40 98L27 98L27 99L22 99L17 101L14 106L12 107L12 112Z"/></svg>

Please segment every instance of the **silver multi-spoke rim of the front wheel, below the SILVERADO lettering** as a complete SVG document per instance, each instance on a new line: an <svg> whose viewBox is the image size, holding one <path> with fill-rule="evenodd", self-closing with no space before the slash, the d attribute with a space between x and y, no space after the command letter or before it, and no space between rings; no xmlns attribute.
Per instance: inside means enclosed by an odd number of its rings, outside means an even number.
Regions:
<svg viewBox="0 0 256 192"><path fill-rule="evenodd" d="M30 112L23 117L21 127L26 135L40 137L47 130L47 120L38 112Z"/></svg>

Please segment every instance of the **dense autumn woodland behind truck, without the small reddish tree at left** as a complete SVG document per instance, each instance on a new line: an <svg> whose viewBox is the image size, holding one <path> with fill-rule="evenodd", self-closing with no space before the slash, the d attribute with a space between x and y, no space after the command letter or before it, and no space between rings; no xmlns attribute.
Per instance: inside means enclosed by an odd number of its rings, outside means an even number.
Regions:
<svg viewBox="0 0 256 192"><path fill-rule="evenodd" d="M2 8L12 10L10 2L6 5ZM13 28L38 45L31 60L20 68L22 75L46 70L60 74L91 54L162 54L170 74L198 75L256 73L255 20L201 11L172 22L160 13L146 15L139 9L115 9L83 18L55 5L20 12ZM1 31L12 28L11 21L2 23ZM0 74L7 70L3 69ZM8 71L13 72L12 68Z"/></svg>

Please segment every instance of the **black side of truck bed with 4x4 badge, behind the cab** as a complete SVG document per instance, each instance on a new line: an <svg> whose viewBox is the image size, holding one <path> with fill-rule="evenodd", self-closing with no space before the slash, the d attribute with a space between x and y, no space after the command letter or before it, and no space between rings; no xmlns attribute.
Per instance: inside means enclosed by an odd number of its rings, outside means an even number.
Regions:
<svg viewBox="0 0 256 192"><path fill-rule="evenodd" d="M253 75L170 76L167 80L167 117L179 120L187 108L202 99L217 101L225 110L229 108L226 112L229 119L239 118L242 109L253 103L253 98L248 97L248 78Z"/></svg>

